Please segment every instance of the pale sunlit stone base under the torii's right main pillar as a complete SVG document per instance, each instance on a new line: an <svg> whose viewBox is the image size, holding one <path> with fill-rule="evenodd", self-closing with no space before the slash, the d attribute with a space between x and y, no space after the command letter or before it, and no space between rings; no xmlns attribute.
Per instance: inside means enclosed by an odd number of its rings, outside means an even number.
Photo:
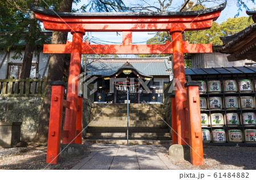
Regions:
<svg viewBox="0 0 256 180"><path fill-rule="evenodd" d="M169 148L168 157L172 160L190 160L190 148L188 145L173 144Z"/></svg>

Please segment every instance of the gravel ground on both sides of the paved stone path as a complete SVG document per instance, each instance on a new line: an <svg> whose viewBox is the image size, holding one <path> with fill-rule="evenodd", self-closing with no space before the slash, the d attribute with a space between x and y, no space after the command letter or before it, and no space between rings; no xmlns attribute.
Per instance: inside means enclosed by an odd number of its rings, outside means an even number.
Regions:
<svg viewBox="0 0 256 180"><path fill-rule="evenodd" d="M61 158L56 165L46 164L46 146L30 144L26 148L0 149L0 169L71 169L92 151L92 143L84 142L85 155L80 158ZM170 145L157 145L168 153ZM186 160L170 160L179 169L256 169L256 147L204 146L204 166L192 166Z"/></svg>

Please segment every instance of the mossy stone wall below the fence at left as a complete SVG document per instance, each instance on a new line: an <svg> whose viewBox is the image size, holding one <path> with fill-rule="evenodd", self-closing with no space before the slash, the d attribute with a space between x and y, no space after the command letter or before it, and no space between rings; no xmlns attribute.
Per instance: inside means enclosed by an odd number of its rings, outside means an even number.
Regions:
<svg viewBox="0 0 256 180"><path fill-rule="evenodd" d="M22 122L20 139L32 140L38 127L42 99L40 96L0 97L0 122Z"/></svg>

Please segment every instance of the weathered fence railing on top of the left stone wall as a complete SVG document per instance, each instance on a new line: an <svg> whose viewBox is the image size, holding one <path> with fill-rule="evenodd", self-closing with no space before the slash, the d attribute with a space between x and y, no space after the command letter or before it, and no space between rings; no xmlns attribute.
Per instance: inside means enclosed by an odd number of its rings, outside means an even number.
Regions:
<svg viewBox="0 0 256 180"><path fill-rule="evenodd" d="M43 79L0 79L0 96L40 96Z"/></svg>

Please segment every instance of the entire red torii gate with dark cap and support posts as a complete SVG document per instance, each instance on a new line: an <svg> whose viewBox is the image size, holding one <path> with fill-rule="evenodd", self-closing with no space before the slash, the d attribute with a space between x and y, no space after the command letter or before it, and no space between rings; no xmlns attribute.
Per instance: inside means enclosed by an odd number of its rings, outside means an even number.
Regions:
<svg viewBox="0 0 256 180"><path fill-rule="evenodd" d="M199 87L187 84L183 53L212 53L211 44L188 44L182 39L184 31L209 29L217 20L226 3L201 11L190 12L108 12L71 13L53 12L35 6L31 10L49 31L71 32L72 42L67 44L46 44L44 53L70 53L67 100L63 99L64 87L53 82L47 163L56 164L63 144L81 144L81 98L78 98L77 83L73 81L80 74L81 54L173 54L175 98L172 98L172 144L190 144L193 165L204 165L203 142L200 123ZM122 32L122 45L90 45L82 42L87 32ZM164 45L133 45L132 32L170 31L172 42ZM72 93L75 87L75 93ZM188 93L187 93L188 92ZM78 105L79 104L79 105ZM63 106L66 107L64 130L61 131ZM193 114L192 114L193 112Z"/></svg>

